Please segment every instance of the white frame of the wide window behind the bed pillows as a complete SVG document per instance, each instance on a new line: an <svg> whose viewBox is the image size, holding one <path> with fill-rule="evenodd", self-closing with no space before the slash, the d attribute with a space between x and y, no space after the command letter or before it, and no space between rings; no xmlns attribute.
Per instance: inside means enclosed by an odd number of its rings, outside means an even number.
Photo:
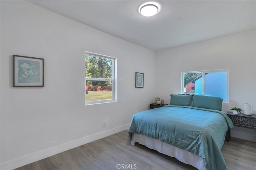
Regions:
<svg viewBox="0 0 256 170"><path fill-rule="evenodd" d="M202 94L205 94L205 87L204 87L204 79L206 73L212 73L212 72L226 72L226 82L227 82L227 99L223 100L224 103L229 102L229 69L218 69L218 70L202 70L202 71L190 71L190 72L182 72L181 73L181 93L184 94L184 74L186 73L196 73L196 72L202 72Z"/></svg>

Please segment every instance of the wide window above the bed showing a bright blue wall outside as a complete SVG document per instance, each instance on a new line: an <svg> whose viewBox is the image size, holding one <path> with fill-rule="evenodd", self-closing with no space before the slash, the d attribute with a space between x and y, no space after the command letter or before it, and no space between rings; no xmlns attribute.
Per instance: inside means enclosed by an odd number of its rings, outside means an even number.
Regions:
<svg viewBox="0 0 256 170"><path fill-rule="evenodd" d="M182 93L218 96L229 102L229 70L182 72Z"/></svg>

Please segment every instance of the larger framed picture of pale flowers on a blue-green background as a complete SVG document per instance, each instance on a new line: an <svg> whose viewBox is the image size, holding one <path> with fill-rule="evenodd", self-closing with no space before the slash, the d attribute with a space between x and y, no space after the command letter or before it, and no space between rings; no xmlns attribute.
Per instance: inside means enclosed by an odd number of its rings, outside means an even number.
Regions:
<svg viewBox="0 0 256 170"><path fill-rule="evenodd" d="M44 87L44 59L12 55L13 87Z"/></svg>

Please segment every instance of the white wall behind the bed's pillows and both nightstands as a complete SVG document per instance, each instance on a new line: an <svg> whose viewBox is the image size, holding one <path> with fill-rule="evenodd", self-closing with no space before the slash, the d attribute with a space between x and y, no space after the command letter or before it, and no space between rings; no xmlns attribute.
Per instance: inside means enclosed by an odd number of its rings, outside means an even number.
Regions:
<svg viewBox="0 0 256 170"><path fill-rule="evenodd" d="M256 30L252 30L157 51L156 94L170 103L170 94L181 92L181 72L229 68L230 102L223 103L222 110L249 103L256 113L255 47ZM252 129L235 127L231 135L256 141Z"/></svg>

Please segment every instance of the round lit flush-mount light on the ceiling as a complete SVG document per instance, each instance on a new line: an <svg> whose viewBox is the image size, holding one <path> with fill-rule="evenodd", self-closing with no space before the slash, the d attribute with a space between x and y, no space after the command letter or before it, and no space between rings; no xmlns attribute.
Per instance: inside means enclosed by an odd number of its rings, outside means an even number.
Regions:
<svg viewBox="0 0 256 170"><path fill-rule="evenodd" d="M150 17L156 15L160 10L159 4L156 2L146 2L142 4L139 8L139 12L141 15Z"/></svg>

